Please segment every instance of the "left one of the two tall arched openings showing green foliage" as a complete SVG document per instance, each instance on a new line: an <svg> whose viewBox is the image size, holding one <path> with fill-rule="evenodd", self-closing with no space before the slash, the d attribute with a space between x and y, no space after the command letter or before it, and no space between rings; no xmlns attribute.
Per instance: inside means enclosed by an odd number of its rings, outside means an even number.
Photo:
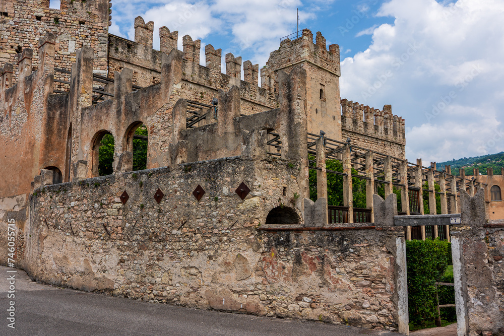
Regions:
<svg viewBox="0 0 504 336"><path fill-rule="evenodd" d="M91 141L91 176L105 176L113 174L113 162L115 152L115 141L112 133L102 129L96 132Z"/></svg>

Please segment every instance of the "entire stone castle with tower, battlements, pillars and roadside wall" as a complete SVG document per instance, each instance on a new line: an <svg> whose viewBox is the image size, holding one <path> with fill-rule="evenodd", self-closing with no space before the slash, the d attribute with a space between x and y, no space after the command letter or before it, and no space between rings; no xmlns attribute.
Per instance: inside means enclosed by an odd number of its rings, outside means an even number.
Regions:
<svg viewBox="0 0 504 336"><path fill-rule="evenodd" d="M166 27L154 50L141 17L135 41L109 34L108 0L0 12L0 239L14 220L16 264L37 281L406 333L404 240L450 232L393 226L394 193L407 216L423 215L422 190L432 215L436 194L449 214L458 188L486 192L408 162L391 105L341 99L339 46L320 32L283 40L261 72L229 53L224 74L221 49L206 45L202 66L200 41L186 35L180 51ZM147 169L133 172L141 125ZM105 135L113 174L99 176ZM327 205L330 173L343 175L344 207ZM353 206L353 178L366 181L366 209Z"/></svg>

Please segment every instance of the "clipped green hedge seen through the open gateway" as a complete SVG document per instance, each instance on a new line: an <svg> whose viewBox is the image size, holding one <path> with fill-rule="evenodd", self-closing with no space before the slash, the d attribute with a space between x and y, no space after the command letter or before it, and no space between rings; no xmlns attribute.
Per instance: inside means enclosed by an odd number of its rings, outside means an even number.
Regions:
<svg viewBox="0 0 504 336"><path fill-rule="evenodd" d="M409 320L425 325L437 317L436 286L448 266L450 243L445 240L406 242Z"/></svg>

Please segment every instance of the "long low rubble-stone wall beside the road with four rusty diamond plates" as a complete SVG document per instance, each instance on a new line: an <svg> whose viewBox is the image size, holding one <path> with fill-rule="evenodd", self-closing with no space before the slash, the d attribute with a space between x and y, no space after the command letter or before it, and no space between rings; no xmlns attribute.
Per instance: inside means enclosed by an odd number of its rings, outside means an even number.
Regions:
<svg viewBox="0 0 504 336"><path fill-rule="evenodd" d="M46 186L30 198L21 264L39 281L134 299L397 329L395 236L302 231L289 163L227 158ZM276 207L301 229L265 231Z"/></svg>

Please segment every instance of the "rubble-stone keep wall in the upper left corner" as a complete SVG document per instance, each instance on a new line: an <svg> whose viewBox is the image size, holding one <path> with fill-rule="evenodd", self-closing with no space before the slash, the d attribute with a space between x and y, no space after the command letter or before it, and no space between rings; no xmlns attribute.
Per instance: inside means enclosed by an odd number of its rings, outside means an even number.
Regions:
<svg viewBox="0 0 504 336"><path fill-rule="evenodd" d="M0 32L0 63L13 63L14 79L19 74L17 54L24 48L37 46L46 32L56 35L56 68L70 70L76 50L84 46L94 49L95 71L107 72L108 0L61 0L60 9L49 9L49 0L16 0L0 3L3 27ZM34 69L38 53L34 50ZM58 77L59 78L59 77ZM56 79L58 79L56 78ZM67 76L61 79L68 81Z"/></svg>

